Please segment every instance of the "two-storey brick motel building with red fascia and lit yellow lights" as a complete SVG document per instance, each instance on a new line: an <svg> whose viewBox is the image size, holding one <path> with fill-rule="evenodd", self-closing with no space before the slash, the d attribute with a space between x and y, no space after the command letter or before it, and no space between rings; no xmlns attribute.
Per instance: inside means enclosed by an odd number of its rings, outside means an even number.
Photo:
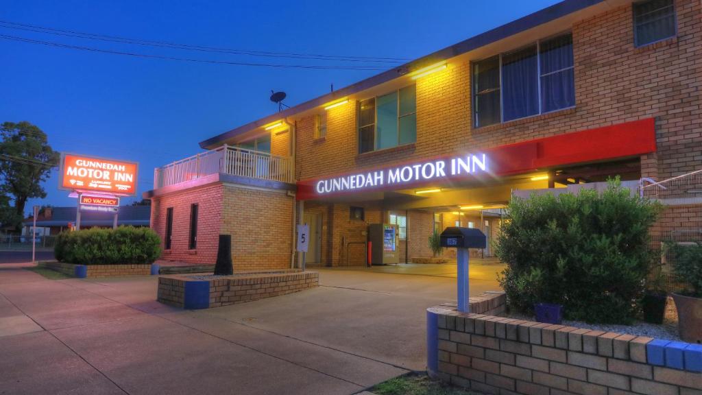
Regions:
<svg viewBox="0 0 702 395"><path fill-rule="evenodd" d="M223 233L236 269L295 267L307 224L307 266L422 261L446 226L494 240L512 195L700 169L701 11L562 1L202 141L144 196L164 259Z"/></svg>

